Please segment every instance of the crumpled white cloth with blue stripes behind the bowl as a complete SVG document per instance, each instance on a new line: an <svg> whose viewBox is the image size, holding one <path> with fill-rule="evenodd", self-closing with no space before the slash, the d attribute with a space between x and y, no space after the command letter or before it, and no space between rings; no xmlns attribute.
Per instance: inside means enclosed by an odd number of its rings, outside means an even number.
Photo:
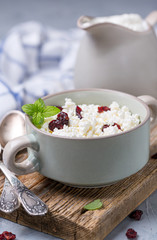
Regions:
<svg viewBox="0 0 157 240"><path fill-rule="evenodd" d="M83 31L38 22L11 29L0 43L0 119L49 93L73 89L73 68Z"/></svg>

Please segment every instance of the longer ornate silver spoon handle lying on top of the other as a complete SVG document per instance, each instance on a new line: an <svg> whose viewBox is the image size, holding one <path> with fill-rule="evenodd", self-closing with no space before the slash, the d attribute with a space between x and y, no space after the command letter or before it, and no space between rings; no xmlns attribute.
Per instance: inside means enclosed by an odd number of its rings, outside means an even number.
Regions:
<svg viewBox="0 0 157 240"><path fill-rule="evenodd" d="M31 192L15 175L10 172L6 166L0 161L0 168L4 175L8 178L14 191L23 205L26 212L30 215L43 215L47 213L46 204Z"/></svg>

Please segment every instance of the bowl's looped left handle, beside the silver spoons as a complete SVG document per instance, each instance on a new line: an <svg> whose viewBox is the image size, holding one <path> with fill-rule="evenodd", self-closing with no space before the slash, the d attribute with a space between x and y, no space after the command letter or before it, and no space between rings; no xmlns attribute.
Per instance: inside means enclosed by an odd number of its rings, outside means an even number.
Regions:
<svg viewBox="0 0 157 240"><path fill-rule="evenodd" d="M16 154L27 147L29 148L28 158L21 163L15 162ZM33 134L17 137L6 144L3 151L3 162L10 171L17 175L39 171L38 151L39 144Z"/></svg>

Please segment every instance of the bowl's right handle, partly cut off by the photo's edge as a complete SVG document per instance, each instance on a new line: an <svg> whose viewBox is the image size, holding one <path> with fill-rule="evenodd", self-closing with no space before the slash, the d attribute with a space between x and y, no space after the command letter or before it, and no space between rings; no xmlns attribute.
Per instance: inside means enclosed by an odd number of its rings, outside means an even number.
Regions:
<svg viewBox="0 0 157 240"><path fill-rule="evenodd" d="M157 124L157 99L149 95L139 96L138 98L145 102L150 109L150 127L152 129Z"/></svg>

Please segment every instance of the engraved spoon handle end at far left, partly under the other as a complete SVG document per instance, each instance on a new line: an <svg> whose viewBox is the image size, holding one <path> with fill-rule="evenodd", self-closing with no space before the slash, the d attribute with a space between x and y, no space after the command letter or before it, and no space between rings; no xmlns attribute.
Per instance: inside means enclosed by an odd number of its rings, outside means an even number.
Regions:
<svg viewBox="0 0 157 240"><path fill-rule="evenodd" d="M7 178L5 178L3 191L0 197L0 210L6 213L11 213L19 208L20 202L13 187L10 185Z"/></svg>

